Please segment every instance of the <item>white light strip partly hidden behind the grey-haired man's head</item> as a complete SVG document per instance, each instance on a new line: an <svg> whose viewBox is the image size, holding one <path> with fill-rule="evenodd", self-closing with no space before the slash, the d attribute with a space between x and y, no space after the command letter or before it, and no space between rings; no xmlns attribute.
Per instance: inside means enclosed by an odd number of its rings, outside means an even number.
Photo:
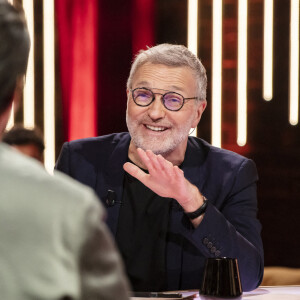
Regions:
<svg viewBox="0 0 300 300"><path fill-rule="evenodd" d="M188 0L188 48L198 55L198 0ZM197 127L190 134L197 136Z"/></svg>

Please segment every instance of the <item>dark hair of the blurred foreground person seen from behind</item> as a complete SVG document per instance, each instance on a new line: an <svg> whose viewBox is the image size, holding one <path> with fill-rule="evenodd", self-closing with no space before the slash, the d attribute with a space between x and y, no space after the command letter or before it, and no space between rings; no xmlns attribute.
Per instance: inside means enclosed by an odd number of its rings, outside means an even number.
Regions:
<svg viewBox="0 0 300 300"><path fill-rule="evenodd" d="M23 11L0 0L0 114L13 100L17 79L26 73L29 48Z"/></svg>

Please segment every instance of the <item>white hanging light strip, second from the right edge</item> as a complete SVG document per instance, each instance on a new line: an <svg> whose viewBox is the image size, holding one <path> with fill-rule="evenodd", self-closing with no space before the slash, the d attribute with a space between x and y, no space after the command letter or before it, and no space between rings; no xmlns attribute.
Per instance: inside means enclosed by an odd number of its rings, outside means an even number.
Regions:
<svg viewBox="0 0 300 300"><path fill-rule="evenodd" d="M264 2L263 98L273 98L273 0Z"/></svg>

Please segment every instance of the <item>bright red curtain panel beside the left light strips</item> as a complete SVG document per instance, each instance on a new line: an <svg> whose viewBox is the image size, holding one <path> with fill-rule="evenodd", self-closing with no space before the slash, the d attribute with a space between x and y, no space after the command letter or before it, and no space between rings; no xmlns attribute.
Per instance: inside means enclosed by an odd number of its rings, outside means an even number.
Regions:
<svg viewBox="0 0 300 300"><path fill-rule="evenodd" d="M97 134L97 0L57 0L65 139Z"/></svg>

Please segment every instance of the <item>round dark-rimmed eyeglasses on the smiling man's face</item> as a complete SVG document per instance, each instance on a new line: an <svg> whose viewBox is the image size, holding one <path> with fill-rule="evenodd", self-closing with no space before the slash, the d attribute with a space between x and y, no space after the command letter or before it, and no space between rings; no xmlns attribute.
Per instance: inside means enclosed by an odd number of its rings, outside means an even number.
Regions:
<svg viewBox="0 0 300 300"><path fill-rule="evenodd" d="M159 90L159 89L157 89ZM136 88L131 90L133 101L138 106L149 106L154 100L155 95L161 95L161 101L164 107L171 111L180 110L187 100L198 99L198 97L184 98L182 95L175 92L167 92L165 94L154 93L148 88Z"/></svg>

